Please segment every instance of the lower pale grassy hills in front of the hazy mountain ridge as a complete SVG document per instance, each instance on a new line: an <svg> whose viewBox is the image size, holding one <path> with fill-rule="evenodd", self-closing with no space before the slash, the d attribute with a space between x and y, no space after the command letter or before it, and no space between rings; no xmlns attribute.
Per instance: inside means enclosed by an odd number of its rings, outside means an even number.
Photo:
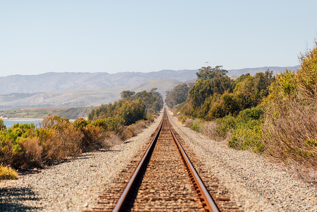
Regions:
<svg viewBox="0 0 317 212"><path fill-rule="evenodd" d="M112 87L99 91L78 90L33 94L11 93L0 95L0 111L17 108L99 106L102 103L107 104L120 99L120 92L123 90L135 92L150 91L153 87L157 87L157 91L165 97L165 91L171 90L179 83L181 81L176 79L153 79L131 87Z"/></svg>

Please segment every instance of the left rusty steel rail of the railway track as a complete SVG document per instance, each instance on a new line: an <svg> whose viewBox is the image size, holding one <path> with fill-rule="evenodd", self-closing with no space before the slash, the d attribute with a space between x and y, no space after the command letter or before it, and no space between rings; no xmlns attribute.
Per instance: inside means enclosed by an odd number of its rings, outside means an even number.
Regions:
<svg viewBox="0 0 317 212"><path fill-rule="evenodd" d="M128 194L131 192L131 188L133 187L133 184L135 183L135 181L137 181L137 176L142 171L142 168L145 165L146 160L150 156L150 152L155 147L155 145L153 145L153 144L155 143L155 141L159 137L159 133L161 132L161 129L162 129L162 126L163 126L163 120L164 120L164 115L163 115L163 118L162 118L162 121L161 121L161 126L160 126L158 132L155 134L150 146L147 148L146 152L144 153L144 155L142 157L142 160L140 161L138 167L135 169L135 171L134 171L129 183L126 185L126 188L124 189L122 195L120 196L116 206L112 210L113 212L124 211L125 202L126 202L126 200L128 198Z"/></svg>

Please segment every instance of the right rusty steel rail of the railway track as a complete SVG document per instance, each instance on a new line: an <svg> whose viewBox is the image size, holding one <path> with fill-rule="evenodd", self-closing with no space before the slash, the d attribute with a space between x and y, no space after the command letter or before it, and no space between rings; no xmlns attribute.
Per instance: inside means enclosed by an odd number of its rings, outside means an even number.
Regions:
<svg viewBox="0 0 317 212"><path fill-rule="evenodd" d="M167 116L167 114L166 114ZM173 136L173 139L178 147L178 150L179 152L181 153L185 163L187 164L192 176L193 176L193 179L198 187L198 190L200 191L200 194L201 196L203 197L204 199L204 202L206 204L206 207L208 208L208 210L210 212L219 212L219 209L215 203L215 201L212 199L212 197L210 196L206 186L204 185L204 182L201 180L201 178L199 177L196 169L194 168L193 164L191 163L191 161L189 160L187 154L185 153L182 145L179 143L179 141L177 140L172 128L171 128L171 125L169 123L169 120L168 118L166 117L166 120L167 120L167 124L168 124L168 127L170 128L170 131L171 131L171 134Z"/></svg>

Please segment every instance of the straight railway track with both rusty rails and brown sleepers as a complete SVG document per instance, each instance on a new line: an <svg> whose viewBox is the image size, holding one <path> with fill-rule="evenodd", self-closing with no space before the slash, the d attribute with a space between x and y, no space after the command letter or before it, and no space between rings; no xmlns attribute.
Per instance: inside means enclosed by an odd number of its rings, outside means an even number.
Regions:
<svg viewBox="0 0 317 212"><path fill-rule="evenodd" d="M202 164L193 153L187 156L173 131L165 109L146 153L140 160L136 156L98 206L87 211L241 211L216 178L203 168L196 171L194 165Z"/></svg>

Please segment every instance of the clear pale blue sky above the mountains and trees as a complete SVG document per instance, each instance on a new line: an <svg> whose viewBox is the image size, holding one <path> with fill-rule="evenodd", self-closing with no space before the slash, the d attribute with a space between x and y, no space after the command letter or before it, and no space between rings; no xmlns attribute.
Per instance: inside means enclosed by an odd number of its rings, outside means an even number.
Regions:
<svg viewBox="0 0 317 212"><path fill-rule="evenodd" d="M0 76L298 65L317 1L0 1Z"/></svg>

